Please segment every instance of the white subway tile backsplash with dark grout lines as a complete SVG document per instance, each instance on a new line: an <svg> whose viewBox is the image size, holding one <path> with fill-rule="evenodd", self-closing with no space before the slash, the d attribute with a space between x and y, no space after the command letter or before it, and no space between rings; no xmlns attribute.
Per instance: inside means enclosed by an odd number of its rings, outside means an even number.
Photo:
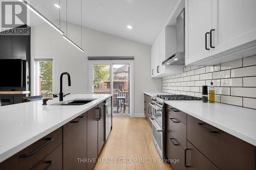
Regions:
<svg viewBox="0 0 256 170"><path fill-rule="evenodd" d="M202 86L215 86L215 101L256 109L256 56L214 66L186 66L183 73L162 78L162 92L202 95Z"/></svg>

